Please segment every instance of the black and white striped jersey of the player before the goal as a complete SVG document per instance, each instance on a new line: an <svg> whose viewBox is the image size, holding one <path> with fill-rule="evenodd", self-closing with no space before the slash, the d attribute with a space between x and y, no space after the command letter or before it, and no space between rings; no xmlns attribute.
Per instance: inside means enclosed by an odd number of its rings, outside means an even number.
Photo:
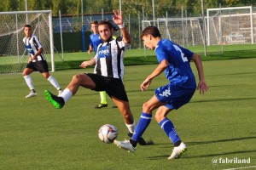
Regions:
<svg viewBox="0 0 256 170"><path fill-rule="evenodd" d="M36 37L35 35L32 35L32 37L29 37L29 38L24 37L23 42L26 46L26 50L27 50L28 54L31 57L34 54L38 53L39 48L43 48L43 46L42 46L41 42L39 41L38 37ZM43 53L38 55L37 58L38 58L37 59L38 61L46 60Z"/></svg>

